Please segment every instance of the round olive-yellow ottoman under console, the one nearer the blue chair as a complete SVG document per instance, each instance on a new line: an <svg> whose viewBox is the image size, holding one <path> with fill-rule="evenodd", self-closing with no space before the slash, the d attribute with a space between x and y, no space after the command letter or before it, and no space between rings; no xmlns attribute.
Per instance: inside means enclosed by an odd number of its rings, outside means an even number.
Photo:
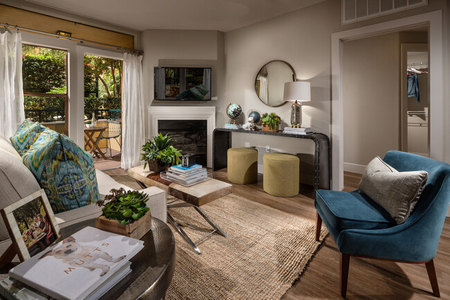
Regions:
<svg viewBox="0 0 450 300"><path fill-rule="evenodd" d="M300 185L300 159L287 153L267 153L263 157L262 187L268 194L292 197Z"/></svg>

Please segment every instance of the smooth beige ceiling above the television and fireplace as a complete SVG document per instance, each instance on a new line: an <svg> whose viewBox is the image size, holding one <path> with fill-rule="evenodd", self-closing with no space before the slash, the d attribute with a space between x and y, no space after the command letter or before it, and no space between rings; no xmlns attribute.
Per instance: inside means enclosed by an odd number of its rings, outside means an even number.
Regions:
<svg viewBox="0 0 450 300"><path fill-rule="evenodd" d="M230 31L325 0L28 0L142 31Z"/></svg>

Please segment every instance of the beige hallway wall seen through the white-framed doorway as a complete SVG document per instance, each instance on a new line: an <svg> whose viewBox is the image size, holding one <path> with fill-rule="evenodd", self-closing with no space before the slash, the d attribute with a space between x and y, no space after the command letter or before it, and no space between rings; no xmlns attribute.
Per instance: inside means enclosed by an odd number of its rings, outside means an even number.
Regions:
<svg viewBox="0 0 450 300"><path fill-rule="evenodd" d="M343 43L344 170L399 150L399 33Z"/></svg>

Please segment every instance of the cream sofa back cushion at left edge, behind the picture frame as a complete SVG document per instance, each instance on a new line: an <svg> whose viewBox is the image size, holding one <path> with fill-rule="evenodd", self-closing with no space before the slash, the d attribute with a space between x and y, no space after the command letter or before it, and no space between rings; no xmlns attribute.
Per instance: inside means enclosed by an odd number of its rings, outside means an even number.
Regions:
<svg viewBox="0 0 450 300"><path fill-rule="evenodd" d="M0 149L0 209L39 191L41 188L21 159ZM3 218L0 218L0 241L9 238Z"/></svg>

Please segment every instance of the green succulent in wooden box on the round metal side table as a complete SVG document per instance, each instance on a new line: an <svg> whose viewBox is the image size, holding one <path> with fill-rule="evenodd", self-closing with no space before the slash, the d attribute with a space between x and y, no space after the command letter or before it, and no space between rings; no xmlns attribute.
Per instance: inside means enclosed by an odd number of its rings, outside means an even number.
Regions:
<svg viewBox="0 0 450 300"><path fill-rule="evenodd" d="M145 202L148 195L124 188L111 189L105 200L96 202L103 206L96 227L132 238L142 238L152 227L152 215Z"/></svg>

